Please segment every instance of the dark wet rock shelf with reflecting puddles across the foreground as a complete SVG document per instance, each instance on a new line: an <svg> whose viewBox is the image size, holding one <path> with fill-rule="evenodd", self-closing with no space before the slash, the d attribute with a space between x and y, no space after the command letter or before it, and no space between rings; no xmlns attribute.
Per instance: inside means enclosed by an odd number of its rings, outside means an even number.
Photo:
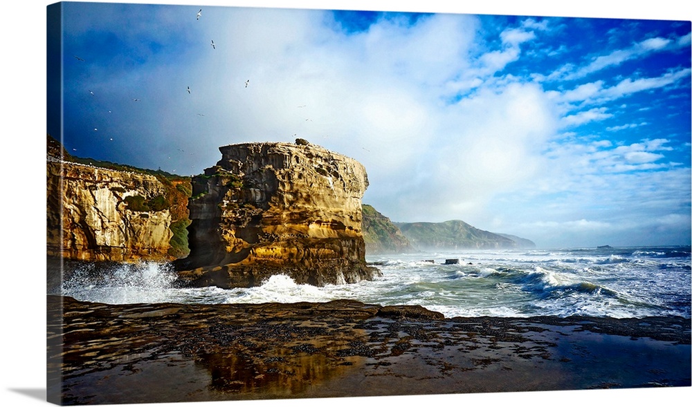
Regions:
<svg viewBox="0 0 692 407"><path fill-rule="evenodd" d="M444 319L421 307L356 301L107 305L48 296L48 399L691 386L690 335L682 318Z"/></svg>

